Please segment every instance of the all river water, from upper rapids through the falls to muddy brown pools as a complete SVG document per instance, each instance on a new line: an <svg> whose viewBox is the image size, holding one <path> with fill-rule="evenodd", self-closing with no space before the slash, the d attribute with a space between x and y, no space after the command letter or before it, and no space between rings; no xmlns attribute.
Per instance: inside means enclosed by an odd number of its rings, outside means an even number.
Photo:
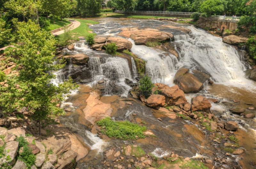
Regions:
<svg viewBox="0 0 256 169"><path fill-rule="evenodd" d="M155 82L173 86L173 76L183 66L189 68L190 71L198 69L210 74L214 84L212 86L205 85L204 90L198 94L219 99L220 102L212 103L211 110L215 111L216 115L239 123L239 129L235 134L240 145L245 149L245 153L242 155L242 159L237 160L241 162L245 169L256 166L256 119L245 119L239 115L233 115L225 106L225 103L233 100L239 100L239 106L245 109L256 104L256 83L246 79L244 74L244 71L249 68L243 60L244 51L236 50L233 46L223 43L220 37L213 36L189 24L151 19L92 18L92 20L100 22L90 26L97 35L115 36L124 27L155 28L172 33L174 41L171 44L179 53L178 58L165 51L144 45L135 45L132 40L130 40L133 44L131 51L146 61L146 72ZM166 25L184 27L191 31L186 34L176 29L167 28ZM189 121L173 121L164 117L162 117L164 120L159 122L156 117L161 115L152 111L152 109L136 102L128 106L122 101L123 98L127 97L130 89L123 82L123 79L132 79L133 74L137 73L134 61L132 61L132 67L129 67L126 59L91 50L84 42L77 42L75 50L68 51L68 53L86 53L90 56L88 67L93 74L93 78L89 80L91 86L94 81L98 81L102 77L110 79L115 74L119 78L120 84L126 88L123 96L103 96L101 101L111 103L113 119L130 121L142 119L146 122L145 125L157 136L157 139L139 139L136 142L147 153L151 152L158 157L163 157L175 151L180 156L193 157L200 152L204 157L209 156L209 153L204 153L205 147L202 146L202 142L191 136L189 132L188 128L191 129L196 125ZM72 66L69 65L67 69L72 69ZM61 72L58 73L58 77L59 81L63 80ZM63 106L71 108L71 112L60 117L61 124L81 137L83 142L91 149L89 154L78 162L79 168L87 168L88 161L93 161L92 163L95 163L95 166L100 164L102 152L110 145L122 147L123 144L131 142L108 138L100 139L97 137L95 130L86 127L81 117L81 110L86 106L85 100L90 91L92 91L92 88L81 85L76 95L63 103ZM198 94L186 94L188 102ZM123 107L123 109L120 109L120 107ZM136 118L132 115L134 113L137 115ZM198 133L200 135L200 132ZM214 145L208 147L208 149L214 150Z"/></svg>

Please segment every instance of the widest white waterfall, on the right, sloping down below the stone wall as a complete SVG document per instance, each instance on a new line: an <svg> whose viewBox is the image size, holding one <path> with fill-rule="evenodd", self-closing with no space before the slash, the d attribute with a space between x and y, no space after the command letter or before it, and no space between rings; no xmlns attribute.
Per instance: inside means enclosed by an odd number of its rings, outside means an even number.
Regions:
<svg viewBox="0 0 256 169"><path fill-rule="evenodd" d="M244 64L237 50L222 42L220 37L213 36L202 29L188 27L190 37L175 41L179 53L179 67L185 66L190 70L202 68L210 73L215 82L224 85L252 84L244 77Z"/></svg>

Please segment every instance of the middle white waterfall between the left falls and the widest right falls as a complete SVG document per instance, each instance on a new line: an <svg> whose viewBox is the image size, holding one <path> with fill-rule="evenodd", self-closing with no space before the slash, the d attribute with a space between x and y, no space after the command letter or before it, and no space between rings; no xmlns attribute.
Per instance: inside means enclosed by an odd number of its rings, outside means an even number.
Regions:
<svg viewBox="0 0 256 169"><path fill-rule="evenodd" d="M172 85L178 59L172 54L159 53L153 48L135 45L133 40L130 39L130 41L132 42L131 51L141 59L146 60L146 73L155 80L154 82Z"/></svg>

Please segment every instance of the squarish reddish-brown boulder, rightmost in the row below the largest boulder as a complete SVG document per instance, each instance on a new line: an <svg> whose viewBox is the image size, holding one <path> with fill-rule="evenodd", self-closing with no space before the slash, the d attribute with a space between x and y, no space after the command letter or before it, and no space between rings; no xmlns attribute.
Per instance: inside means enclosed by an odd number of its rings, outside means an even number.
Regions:
<svg viewBox="0 0 256 169"><path fill-rule="evenodd" d="M191 101L191 111L204 111L209 112L212 107L210 101L203 96L196 96Z"/></svg>

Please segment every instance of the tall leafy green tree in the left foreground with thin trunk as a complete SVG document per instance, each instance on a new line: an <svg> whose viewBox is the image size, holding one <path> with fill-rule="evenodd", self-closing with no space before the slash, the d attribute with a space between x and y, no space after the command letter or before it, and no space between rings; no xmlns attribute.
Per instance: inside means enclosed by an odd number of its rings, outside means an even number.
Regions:
<svg viewBox="0 0 256 169"><path fill-rule="evenodd" d="M64 66L59 62L54 64L56 42L51 33L41 30L31 20L26 23L15 19L14 25L17 42L6 54L16 64L19 74L8 78L7 86L0 87L0 105L5 112L28 107L34 113L31 118L39 122L41 134L41 121L51 114L63 113L56 104L77 85L71 79L58 86L50 83L55 77L53 71Z"/></svg>

